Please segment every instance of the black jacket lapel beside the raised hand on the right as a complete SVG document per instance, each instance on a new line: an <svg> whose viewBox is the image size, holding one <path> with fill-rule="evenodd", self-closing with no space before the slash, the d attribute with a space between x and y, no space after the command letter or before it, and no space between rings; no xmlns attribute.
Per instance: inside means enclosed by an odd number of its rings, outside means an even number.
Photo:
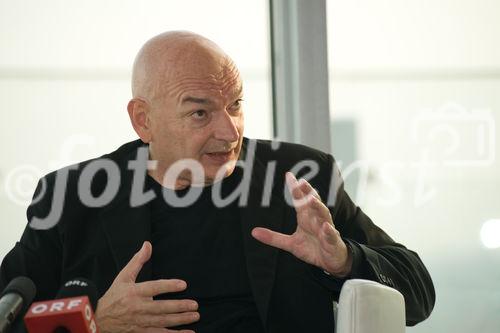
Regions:
<svg viewBox="0 0 500 333"><path fill-rule="evenodd" d="M251 140L245 143L248 143L246 145L246 161L248 162L248 154L249 152L252 154L252 148L255 153L255 141ZM265 177L266 166L255 156L250 181L248 205L243 206L241 209L241 227L247 270L255 303L263 323L267 321L278 249L259 242L252 237L251 231L255 227L264 227L275 231L281 230L284 212L284 201L274 195L275 191L271 192L273 194L271 194L270 197L270 204L262 205L263 197L266 195L264 193Z"/></svg>

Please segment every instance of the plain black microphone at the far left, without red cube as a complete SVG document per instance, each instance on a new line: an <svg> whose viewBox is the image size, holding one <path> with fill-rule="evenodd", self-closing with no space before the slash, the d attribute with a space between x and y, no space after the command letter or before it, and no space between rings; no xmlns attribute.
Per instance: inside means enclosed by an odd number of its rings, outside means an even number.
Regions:
<svg viewBox="0 0 500 333"><path fill-rule="evenodd" d="M27 277L9 282L0 296L0 333L7 332L19 313L26 312L35 294L35 284Z"/></svg>

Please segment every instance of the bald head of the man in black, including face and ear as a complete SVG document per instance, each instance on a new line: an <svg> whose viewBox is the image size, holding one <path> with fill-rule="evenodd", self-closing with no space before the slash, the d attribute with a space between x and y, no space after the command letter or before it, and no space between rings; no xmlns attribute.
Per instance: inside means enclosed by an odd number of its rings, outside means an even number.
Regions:
<svg viewBox="0 0 500 333"><path fill-rule="evenodd" d="M153 37L136 57L132 94L128 113L158 161L156 180L182 159L201 163L206 183L224 164L225 176L233 172L243 140L242 82L215 43L190 32ZM177 187L190 183L185 172Z"/></svg>

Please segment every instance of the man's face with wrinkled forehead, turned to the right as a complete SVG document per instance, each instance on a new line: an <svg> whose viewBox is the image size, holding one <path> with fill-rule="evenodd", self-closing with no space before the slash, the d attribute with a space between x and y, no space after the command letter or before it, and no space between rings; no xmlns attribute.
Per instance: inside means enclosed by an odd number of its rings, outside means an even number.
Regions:
<svg viewBox="0 0 500 333"><path fill-rule="evenodd" d="M197 57L169 71L150 112L152 157L161 168L194 159L211 183L235 167L243 140L242 83L232 62ZM163 175L161 175L163 177ZM191 182L189 172L179 178Z"/></svg>

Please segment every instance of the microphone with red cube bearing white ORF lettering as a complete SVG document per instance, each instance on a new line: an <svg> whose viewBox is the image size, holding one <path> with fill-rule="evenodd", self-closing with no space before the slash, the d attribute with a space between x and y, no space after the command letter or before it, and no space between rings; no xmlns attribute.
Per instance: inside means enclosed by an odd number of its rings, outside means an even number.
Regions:
<svg viewBox="0 0 500 333"><path fill-rule="evenodd" d="M97 333L93 308L97 288L92 281L66 282L52 301L33 303L24 317L29 333Z"/></svg>

